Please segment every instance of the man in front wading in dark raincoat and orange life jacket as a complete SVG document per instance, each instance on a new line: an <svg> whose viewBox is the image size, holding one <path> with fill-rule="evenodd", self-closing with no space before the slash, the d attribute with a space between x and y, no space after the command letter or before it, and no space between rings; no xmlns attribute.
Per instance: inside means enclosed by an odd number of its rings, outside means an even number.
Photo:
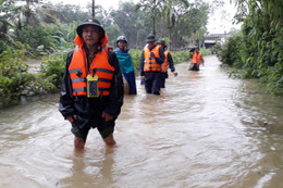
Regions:
<svg viewBox="0 0 283 188"><path fill-rule="evenodd" d="M76 47L66 58L59 111L72 124L76 151L84 149L90 128L98 129L107 146L113 146L124 97L119 61L97 20L84 20L76 33Z"/></svg>

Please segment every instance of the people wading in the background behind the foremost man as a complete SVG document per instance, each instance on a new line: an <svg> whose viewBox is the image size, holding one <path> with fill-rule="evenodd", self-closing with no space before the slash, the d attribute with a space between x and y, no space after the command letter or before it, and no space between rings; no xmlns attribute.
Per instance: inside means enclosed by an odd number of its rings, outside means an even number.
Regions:
<svg viewBox="0 0 283 188"><path fill-rule="evenodd" d="M168 70L170 68L174 76L177 76L175 72L174 62L170 51L168 51L167 43L164 40L160 39L156 41L155 35L149 34L146 38L147 45L143 49L140 57L140 84L145 85L147 93L160 95L160 89L165 88L165 79L169 77ZM131 54L128 53L127 39L125 36L120 36L116 39L118 49L114 50L119 59L121 71L124 77L124 84L128 86L127 93L136 95L136 80L133 61ZM199 52L199 48L194 49L189 53L192 59L192 64L189 71L199 71L199 65L204 59Z"/></svg>

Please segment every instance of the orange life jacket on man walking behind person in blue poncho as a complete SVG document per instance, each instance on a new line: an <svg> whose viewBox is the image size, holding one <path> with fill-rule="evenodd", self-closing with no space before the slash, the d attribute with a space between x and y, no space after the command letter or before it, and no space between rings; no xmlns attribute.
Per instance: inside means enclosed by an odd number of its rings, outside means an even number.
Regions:
<svg viewBox="0 0 283 188"><path fill-rule="evenodd" d="M150 52L153 52L156 58L160 58L159 46L156 46L151 51L148 48L148 45L144 49L145 64L144 72L160 72L161 65L157 63L155 58L150 58Z"/></svg>

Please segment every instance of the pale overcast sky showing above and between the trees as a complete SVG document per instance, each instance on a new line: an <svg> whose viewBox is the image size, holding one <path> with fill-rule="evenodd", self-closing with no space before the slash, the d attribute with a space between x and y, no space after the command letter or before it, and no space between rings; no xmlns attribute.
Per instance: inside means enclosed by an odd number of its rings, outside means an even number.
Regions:
<svg viewBox="0 0 283 188"><path fill-rule="evenodd" d="M86 8L87 4L91 3L93 0L79 0L79 1L70 1L70 0L48 0L51 1L52 3L61 3L63 2L64 4L77 4L83 8ZM120 1L133 1L133 2L138 2L138 0L95 0L96 4L101 5L106 10L109 9L118 9L119 2ZM211 1L211 0L205 0L205 1ZM226 13L221 15L220 13L222 11L226 11ZM207 25L209 34L224 34L224 32L230 32L232 27L234 28L239 28L239 25L233 25L232 20L234 14L236 13L236 9L234 5L230 4L230 1L225 0L225 5L221 8L221 10L216 11L213 16L209 17L209 23Z"/></svg>

